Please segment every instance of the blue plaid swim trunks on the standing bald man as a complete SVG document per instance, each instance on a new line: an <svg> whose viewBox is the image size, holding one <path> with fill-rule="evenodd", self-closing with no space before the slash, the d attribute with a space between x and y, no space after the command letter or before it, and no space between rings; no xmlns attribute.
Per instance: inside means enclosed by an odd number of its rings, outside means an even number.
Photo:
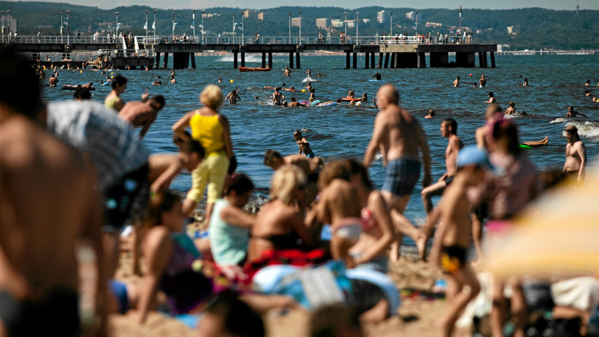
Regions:
<svg viewBox="0 0 599 337"><path fill-rule="evenodd" d="M420 162L411 159L395 159L387 164L383 190L402 197L411 195L420 178Z"/></svg>

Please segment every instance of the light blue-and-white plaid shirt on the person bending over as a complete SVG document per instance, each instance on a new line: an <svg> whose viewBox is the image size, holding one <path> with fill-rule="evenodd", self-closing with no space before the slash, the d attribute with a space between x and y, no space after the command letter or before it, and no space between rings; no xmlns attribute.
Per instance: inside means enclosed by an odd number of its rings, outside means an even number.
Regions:
<svg viewBox="0 0 599 337"><path fill-rule="evenodd" d="M48 104L47 111L48 132L89 154L101 192L147 163L149 151L137 132L103 104L65 101Z"/></svg>

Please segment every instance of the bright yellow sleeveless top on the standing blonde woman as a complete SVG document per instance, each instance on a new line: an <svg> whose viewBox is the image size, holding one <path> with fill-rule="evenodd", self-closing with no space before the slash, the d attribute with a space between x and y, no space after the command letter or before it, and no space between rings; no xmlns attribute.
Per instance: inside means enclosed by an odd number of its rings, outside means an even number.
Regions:
<svg viewBox="0 0 599 337"><path fill-rule="evenodd" d="M189 120L191 137L204 147L207 156L214 156L225 148L223 143L223 126L219 115L202 116L197 111Z"/></svg>

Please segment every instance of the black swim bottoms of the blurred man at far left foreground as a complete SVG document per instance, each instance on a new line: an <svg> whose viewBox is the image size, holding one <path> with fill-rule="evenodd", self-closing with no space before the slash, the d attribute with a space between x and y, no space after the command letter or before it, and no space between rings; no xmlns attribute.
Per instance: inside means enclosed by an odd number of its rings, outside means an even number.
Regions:
<svg viewBox="0 0 599 337"><path fill-rule="evenodd" d="M16 300L0 292L0 319L9 336L78 336L79 297L77 292L54 287L35 299Z"/></svg>

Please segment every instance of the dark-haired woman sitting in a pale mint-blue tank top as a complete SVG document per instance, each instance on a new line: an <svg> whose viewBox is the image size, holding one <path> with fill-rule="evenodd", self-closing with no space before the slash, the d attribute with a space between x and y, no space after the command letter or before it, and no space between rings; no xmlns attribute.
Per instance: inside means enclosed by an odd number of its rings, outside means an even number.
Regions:
<svg viewBox="0 0 599 337"><path fill-rule="evenodd" d="M243 265L254 216L243 210L254 189L245 174L234 174L225 189L225 198L214 202L208 225L210 250L217 265Z"/></svg>

